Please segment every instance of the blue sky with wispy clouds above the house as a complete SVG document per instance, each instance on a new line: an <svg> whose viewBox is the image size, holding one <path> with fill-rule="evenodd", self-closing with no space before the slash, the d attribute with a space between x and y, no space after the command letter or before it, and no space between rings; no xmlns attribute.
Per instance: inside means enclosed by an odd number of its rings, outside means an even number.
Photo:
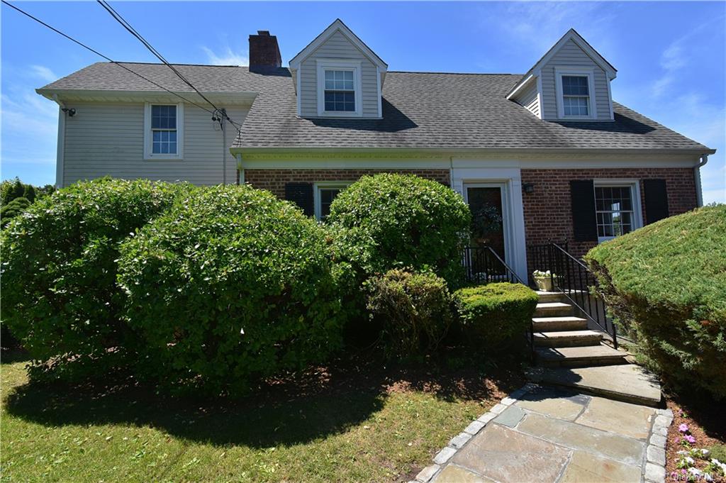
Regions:
<svg viewBox="0 0 726 483"><path fill-rule="evenodd" d="M524 73L574 27L618 69L614 100L718 150L703 198L726 201L725 2L112 4L180 63L245 64L258 29L286 63L340 17L391 70ZM155 60L95 2L17 5L114 60ZM33 89L100 59L5 5L0 15L1 176L53 183L57 107Z"/></svg>

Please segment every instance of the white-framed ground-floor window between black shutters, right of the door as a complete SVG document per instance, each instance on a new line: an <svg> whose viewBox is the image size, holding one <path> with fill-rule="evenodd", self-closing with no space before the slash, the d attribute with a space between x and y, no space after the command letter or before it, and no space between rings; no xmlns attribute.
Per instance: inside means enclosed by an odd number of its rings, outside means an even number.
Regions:
<svg viewBox="0 0 726 483"><path fill-rule="evenodd" d="M637 180L595 180L597 241L611 240L643 226Z"/></svg>

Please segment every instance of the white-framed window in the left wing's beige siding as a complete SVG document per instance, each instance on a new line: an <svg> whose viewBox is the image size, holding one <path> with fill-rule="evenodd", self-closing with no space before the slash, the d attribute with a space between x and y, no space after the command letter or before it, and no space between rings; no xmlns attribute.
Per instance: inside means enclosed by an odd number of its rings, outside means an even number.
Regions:
<svg viewBox="0 0 726 483"><path fill-rule="evenodd" d="M184 104L144 104L144 159L182 159Z"/></svg>

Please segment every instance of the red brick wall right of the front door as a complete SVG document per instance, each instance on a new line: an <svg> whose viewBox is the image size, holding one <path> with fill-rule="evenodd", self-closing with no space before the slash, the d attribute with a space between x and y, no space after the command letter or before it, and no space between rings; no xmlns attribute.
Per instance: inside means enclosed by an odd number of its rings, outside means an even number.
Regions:
<svg viewBox="0 0 726 483"><path fill-rule="evenodd" d="M572 240L572 214L570 201L571 179L660 178L666 180L669 214L676 215L696 208L696 181L690 168L642 169L523 169L522 184L534 184L534 192L522 193L524 231L527 245L569 240L568 248L574 256L582 256L595 242ZM645 216L645 190L640 183L640 203ZM528 256L531 259L531 256ZM530 260L531 261L531 260ZM530 271L533 267L529 267ZM536 268L536 267L534 267Z"/></svg>

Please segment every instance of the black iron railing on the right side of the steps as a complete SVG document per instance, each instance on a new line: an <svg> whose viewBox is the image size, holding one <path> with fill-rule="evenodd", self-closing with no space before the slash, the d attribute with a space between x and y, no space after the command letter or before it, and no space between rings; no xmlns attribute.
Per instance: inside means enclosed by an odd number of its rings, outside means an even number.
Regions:
<svg viewBox="0 0 726 483"><path fill-rule="evenodd" d="M563 247L564 245L564 247ZM567 251L567 242L548 242L544 245L531 245L528 249L531 267L542 272L550 271L552 289L563 293L579 312L590 322L608 333L613 347L618 348L615 324L608 321L605 302L595 293L597 280L587 265Z"/></svg>

